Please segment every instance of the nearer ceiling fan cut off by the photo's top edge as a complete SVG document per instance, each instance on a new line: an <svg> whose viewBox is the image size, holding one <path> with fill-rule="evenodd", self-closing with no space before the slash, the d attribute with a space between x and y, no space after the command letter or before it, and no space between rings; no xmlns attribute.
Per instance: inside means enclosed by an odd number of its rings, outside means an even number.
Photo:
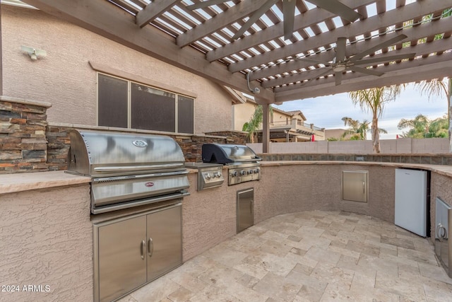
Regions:
<svg viewBox="0 0 452 302"><path fill-rule="evenodd" d="M216 4L221 4L230 0L206 0L203 2L199 2L196 4L191 4L186 8L190 10L194 10L197 8L206 8L208 6L213 6ZM266 13L273 5L275 5L278 1L283 1L283 21L284 21L284 39L290 39L292 37L292 33L294 32L294 19L295 19L295 4L297 4L297 0L268 0L266 3L256 8L256 11L249 16L248 21L244 23L242 28L240 28L237 33L232 37L233 40L237 40L239 37L248 30L251 25L256 23L261 16ZM361 15L354 11L352 8L345 6L345 4L340 3L338 0L307 0L311 4L319 6L319 8L323 8L326 11L334 13L335 15L344 18L347 21L354 22Z"/></svg>

